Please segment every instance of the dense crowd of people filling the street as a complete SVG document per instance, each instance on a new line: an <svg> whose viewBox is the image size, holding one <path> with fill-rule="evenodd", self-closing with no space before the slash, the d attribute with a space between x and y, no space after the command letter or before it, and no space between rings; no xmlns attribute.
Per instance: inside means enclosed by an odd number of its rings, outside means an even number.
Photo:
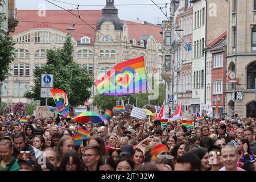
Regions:
<svg viewBox="0 0 256 182"><path fill-rule="evenodd" d="M255 171L255 121L209 119L192 130L181 120L115 115L110 121L0 115L0 171ZM73 135L90 131L80 145Z"/></svg>

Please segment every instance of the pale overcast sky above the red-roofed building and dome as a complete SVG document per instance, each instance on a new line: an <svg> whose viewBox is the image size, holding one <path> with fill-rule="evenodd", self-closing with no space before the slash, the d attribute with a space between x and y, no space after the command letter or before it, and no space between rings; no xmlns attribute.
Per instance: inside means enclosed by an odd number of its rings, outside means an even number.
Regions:
<svg viewBox="0 0 256 182"><path fill-rule="evenodd" d="M64 7L65 9L76 9L77 5L79 10L101 10L106 5L106 0L49 0L56 5ZM61 1L61 2L58 2ZM167 5L167 16L170 16L170 0L153 0L160 7ZM63 3L66 2L66 3ZM70 5L71 3L74 5ZM151 0L115 0L115 7L117 7L118 16L120 19L124 20L145 20L150 23L162 22L162 20L167 20L165 15L160 11L160 9L154 5ZM139 5L139 4L151 4L151 5ZM82 6L87 5L87 6ZM94 5L94 6L88 6ZM97 6L95 6L97 5ZM125 5L125 6L118 6ZM133 5L133 6L131 6ZM18 10L39 10L42 7L46 7L46 10L61 10L59 7L52 5L51 3L45 0L16 0L16 8ZM166 9L162 9L164 13Z"/></svg>

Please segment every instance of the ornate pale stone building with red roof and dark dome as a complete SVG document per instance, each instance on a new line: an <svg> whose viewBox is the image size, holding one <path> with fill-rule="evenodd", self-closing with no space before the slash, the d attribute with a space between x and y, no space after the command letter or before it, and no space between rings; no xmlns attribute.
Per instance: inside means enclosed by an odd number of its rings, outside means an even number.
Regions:
<svg viewBox="0 0 256 182"><path fill-rule="evenodd" d="M144 56L148 73L161 72L162 27L120 20L113 0L106 1L102 10L71 13L17 10L19 24L11 34L16 42L16 59L11 66L12 76L3 85L3 101L29 102L23 95L34 84L34 68L46 64L47 49L62 47L68 32L75 46L74 59L89 70L94 80L115 64L138 56ZM96 89L92 92L96 94Z"/></svg>

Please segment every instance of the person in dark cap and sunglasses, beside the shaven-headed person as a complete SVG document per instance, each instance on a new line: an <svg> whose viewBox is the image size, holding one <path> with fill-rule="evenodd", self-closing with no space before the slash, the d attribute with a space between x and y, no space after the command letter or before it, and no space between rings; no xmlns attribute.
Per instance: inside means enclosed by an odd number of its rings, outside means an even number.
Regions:
<svg viewBox="0 0 256 182"><path fill-rule="evenodd" d="M223 167L221 163L221 147L220 146L211 146L208 148L209 152L209 164L212 167L210 171L218 171Z"/></svg>

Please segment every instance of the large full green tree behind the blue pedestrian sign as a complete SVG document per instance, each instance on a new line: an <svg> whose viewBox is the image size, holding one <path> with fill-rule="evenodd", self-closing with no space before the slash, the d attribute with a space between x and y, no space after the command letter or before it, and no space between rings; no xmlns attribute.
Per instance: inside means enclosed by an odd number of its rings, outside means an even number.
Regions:
<svg viewBox="0 0 256 182"><path fill-rule="evenodd" d="M93 79L86 68L80 68L73 60L74 48L71 38L68 34L63 48L47 50L47 64L34 70L34 86L25 97L40 100L41 104L45 105L45 99L40 98L40 83L41 74L47 73L53 75L54 88L62 89L67 94L71 106L83 105L84 101L88 100ZM50 99L48 104L55 105L53 99Z"/></svg>

